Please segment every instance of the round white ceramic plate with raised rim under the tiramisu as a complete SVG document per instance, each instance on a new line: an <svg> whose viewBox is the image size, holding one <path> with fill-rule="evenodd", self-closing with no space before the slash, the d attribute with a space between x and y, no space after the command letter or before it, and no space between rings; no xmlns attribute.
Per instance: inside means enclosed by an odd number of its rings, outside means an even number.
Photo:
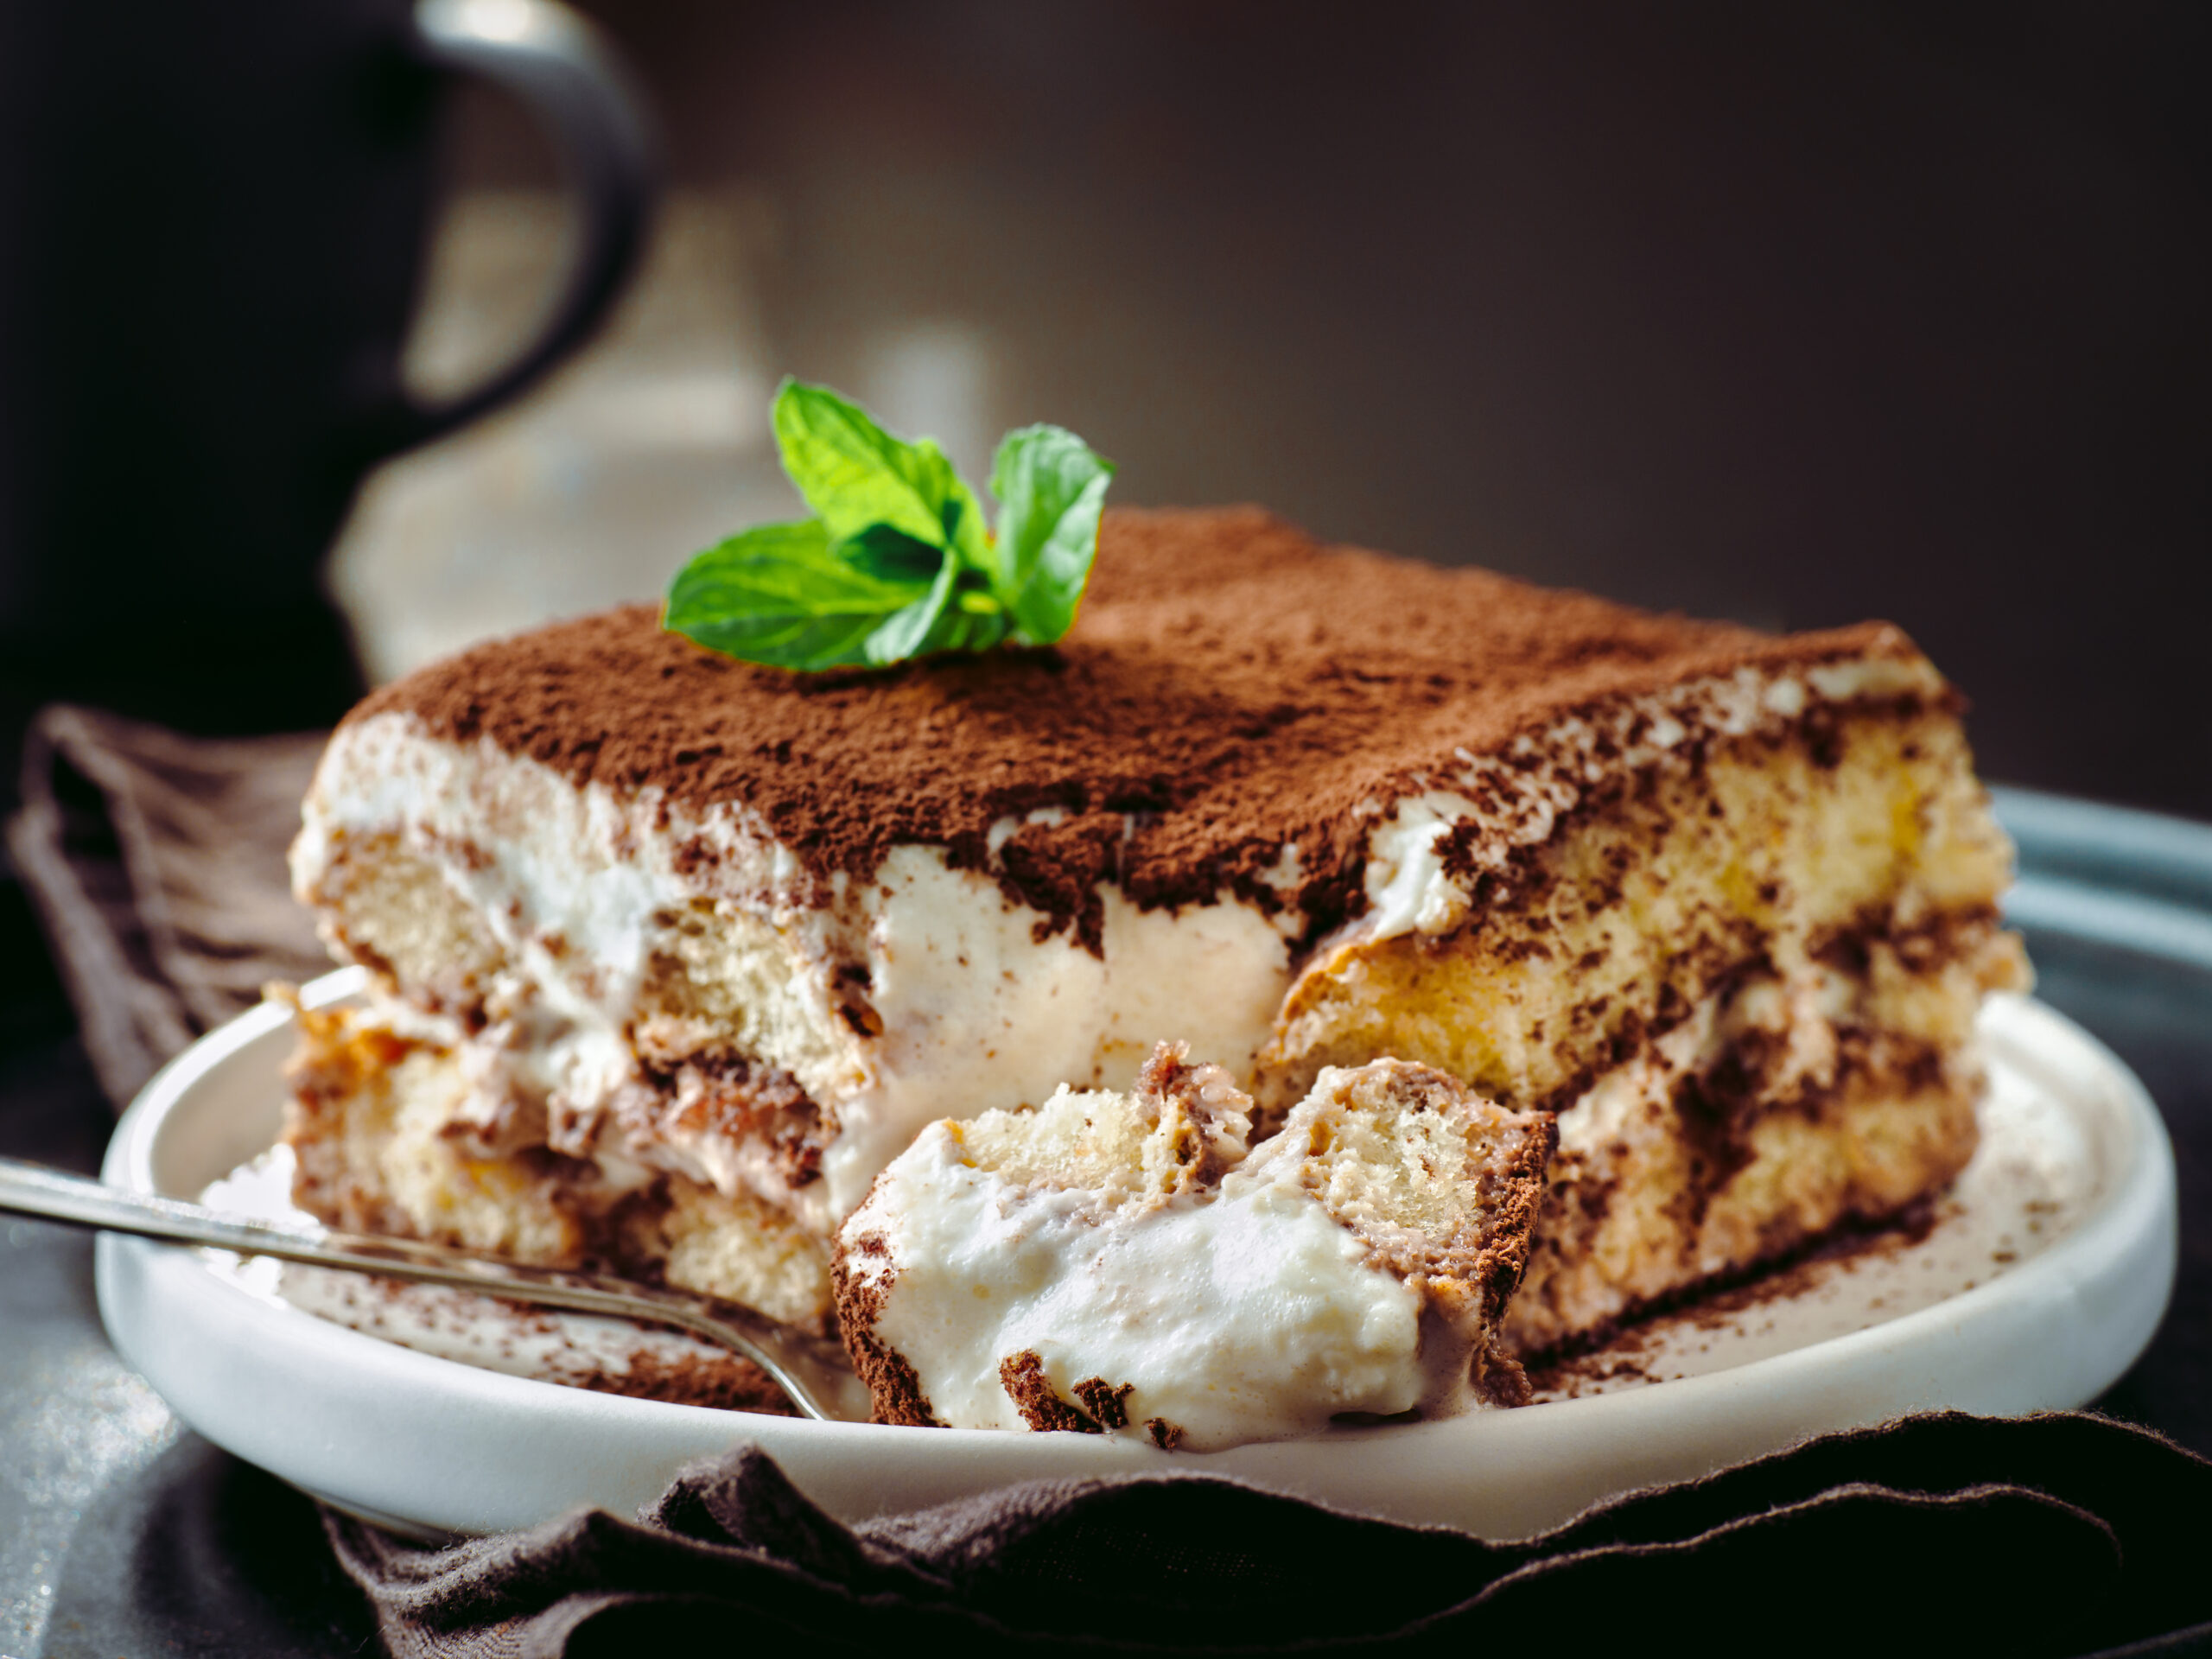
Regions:
<svg viewBox="0 0 2212 1659"><path fill-rule="evenodd" d="M356 987L334 973L307 1000ZM684 1462L754 1440L843 1517L1018 1480L1146 1471L1234 1475L1405 1522L1526 1535L1617 1491L1900 1411L2084 1405L2128 1369L2174 1276L2166 1128L2128 1068L2042 1004L1993 998L1984 1040L1995 1084L1984 1146L1927 1241L1876 1267L1845 1263L1840 1301L1834 1281L1705 1321L1697 1343L1668 1338L1677 1363L1652 1374L1670 1380L1447 1422L1192 1455L1121 1438L661 1405L398 1347L254 1294L228 1259L119 1237L100 1239L100 1310L124 1358L208 1440L409 1531L526 1526L575 1504L630 1513ZM195 1197L268 1148L290 1044L285 1013L270 1006L197 1042L124 1115L106 1179ZM1869 1292L1869 1272L1889 1279ZM1792 1327L1796 1303L1809 1314Z"/></svg>

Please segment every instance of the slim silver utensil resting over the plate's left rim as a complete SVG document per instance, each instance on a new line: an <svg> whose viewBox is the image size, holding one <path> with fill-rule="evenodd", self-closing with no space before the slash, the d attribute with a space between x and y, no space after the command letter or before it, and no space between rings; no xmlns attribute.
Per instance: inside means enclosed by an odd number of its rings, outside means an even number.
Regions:
<svg viewBox="0 0 2212 1659"><path fill-rule="evenodd" d="M66 1221L77 1228L100 1228L102 1232L131 1232L139 1239L234 1250L241 1256L276 1256L279 1261L303 1261L310 1267L347 1267L385 1279L451 1285L515 1303L564 1307L573 1314L613 1314L615 1318L675 1325L743 1354L768 1371L768 1378L810 1418L867 1422L869 1416L867 1387L852 1374L845 1352L836 1343L781 1325L750 1307L688 1290L639 1285L608 1274L531 1267L476 1250L451 1250L414 1239L372 1239L316 1225L254 1221L210 1210L204 1203L126 1192L104 1181L13 1157L0 1157L0 1210L33 1214L42 1221Z"/></svg>

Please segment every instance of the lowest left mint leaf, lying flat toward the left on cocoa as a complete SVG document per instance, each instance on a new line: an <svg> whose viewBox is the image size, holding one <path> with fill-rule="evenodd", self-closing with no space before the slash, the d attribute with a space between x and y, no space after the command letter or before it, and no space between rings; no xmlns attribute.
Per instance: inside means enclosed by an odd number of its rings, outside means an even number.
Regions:
<svg viewBox="0 0 2212 1659"><path fill-rule="evenodd" d="M872 655L872 637L931 591L847 562L821 520L759 524L677 573L661 626L743 661L843 668L891 661Z"/></svg>

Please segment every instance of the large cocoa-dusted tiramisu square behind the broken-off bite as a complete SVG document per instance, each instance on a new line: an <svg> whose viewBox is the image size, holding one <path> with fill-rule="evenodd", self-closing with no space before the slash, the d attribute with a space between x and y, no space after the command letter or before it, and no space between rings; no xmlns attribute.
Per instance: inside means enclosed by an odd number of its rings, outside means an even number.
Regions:
<svg viewBox="0 0 2212 1659"><path fill-rule="evenodd" d="M1259 1179L1387 1057L1557 1115L1504 1314L1535 1356L1960 1170L2008 860L1896 628L1108 513L1053 648L796 675L637 606L363 703L294 849L374 987L307 1024L299 1197L823 1323L925 1126L1057 1121L1181 1042ZM1093 1380L1035 1352L1064 1405Z"/></svg>

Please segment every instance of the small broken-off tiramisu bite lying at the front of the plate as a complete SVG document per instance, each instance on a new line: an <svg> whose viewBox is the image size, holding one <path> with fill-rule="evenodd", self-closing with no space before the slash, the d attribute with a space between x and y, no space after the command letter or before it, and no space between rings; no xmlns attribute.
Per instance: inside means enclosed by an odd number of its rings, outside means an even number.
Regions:
<svg viewBox="0 0 2212 1659"><path fill-rule="evenodd" d="M938 1121L838 1232L838 1323L880 1422L1210 1451L1334 1418L1517 1402L1493 1354L1553 1146L1431 1066L1252 1102L1161 1046L1128 1095Z"/></svg>

